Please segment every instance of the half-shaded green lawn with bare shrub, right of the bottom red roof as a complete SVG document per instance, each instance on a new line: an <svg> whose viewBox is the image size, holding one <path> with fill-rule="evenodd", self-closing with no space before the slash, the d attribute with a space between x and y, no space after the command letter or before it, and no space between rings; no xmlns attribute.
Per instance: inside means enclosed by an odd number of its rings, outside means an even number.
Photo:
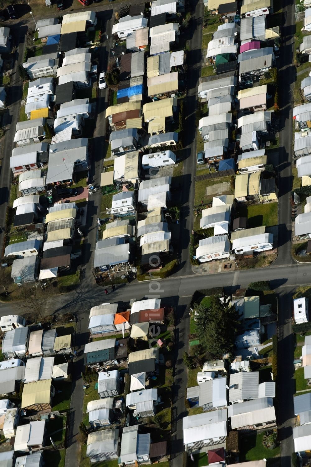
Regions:
<svg viewBox="0 0 311 467"><path fill-rule="evenodd" d="M241 462L247 460L262 460L270 459L280 455L280 446L275 449L267 449L263 446L263 433L252 433L240 440L240 456Z"/></svg>

